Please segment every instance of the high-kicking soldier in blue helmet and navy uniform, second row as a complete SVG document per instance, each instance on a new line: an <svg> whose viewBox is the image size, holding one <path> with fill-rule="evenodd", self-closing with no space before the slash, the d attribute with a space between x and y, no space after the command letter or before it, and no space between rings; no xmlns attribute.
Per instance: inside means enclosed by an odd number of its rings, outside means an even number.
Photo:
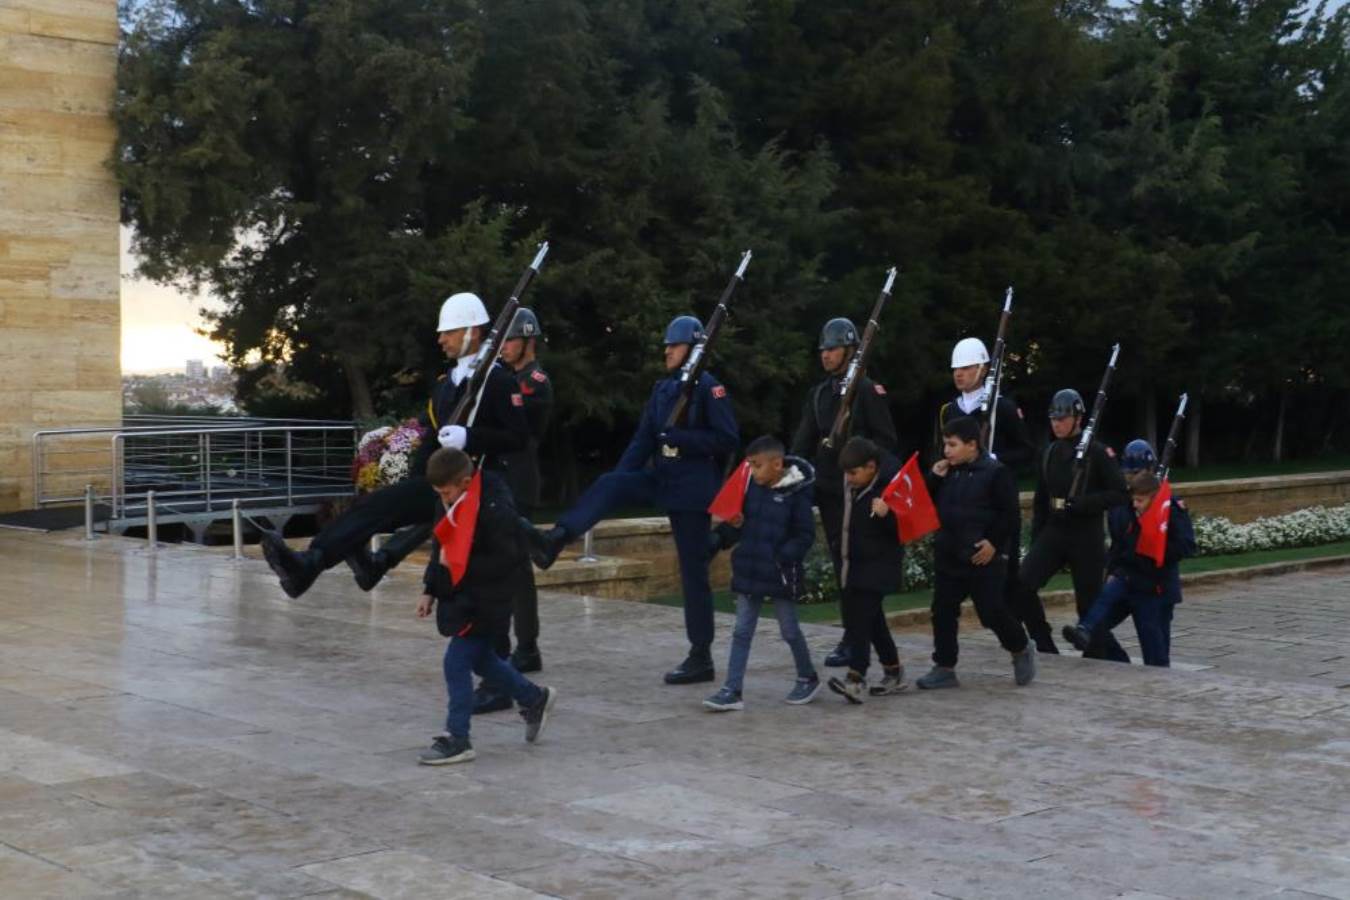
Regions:
<svg viewBox="0 0 1350 900"><path fill-rule="evenodd" d="M656 505L666 510L679 557L684 631L690 644L684 661L666 673L667 684L695 684L716 677L713 588L707 578L711 559L707 532L713 518L707 507L722 486L726 457L740 444L732 401L707 371L698 378L684 422L666 429L666 420L679 398L680 370L702 340L703 325L693 316L671 320L666 328L667 376L652 389L637 430L614 471L601 475L586 488L551 529L531 526L525 530L531 559L547 569L568 541L582 537L614 509Z"/></svg>

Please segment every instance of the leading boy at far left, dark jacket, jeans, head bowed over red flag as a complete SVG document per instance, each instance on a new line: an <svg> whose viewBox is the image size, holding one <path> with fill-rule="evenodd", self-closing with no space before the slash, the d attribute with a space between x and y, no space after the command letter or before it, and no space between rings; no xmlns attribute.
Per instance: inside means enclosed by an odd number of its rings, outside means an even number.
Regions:
<svg viewBox="0 0 1350 900"><path fill-rule="evenodd" d="M520 703L525 739L531 743L544 730L548 712L558 700L558 691L531 683L493 650L497 636L510 622L512 596L509 587L504 590L504 586L513 584L514 573L529 565L529 560L520 544L520 525L506 484L493 472L481 472L479 478L482 494L477 521L456 518L456 513L464 515L462 501L467 499L474 482L473 461L463 451L446 447L427 460L427 480L440 495L456 530L473 529L473 542L468 563L455 583L441 556L444 548L440 540L432 540L431 563L424 576L425 594L417 603L417 618L427 618L435 607L436 627L450 638L444 660L446 691L450 694L446 731L417 757L423 765L468 762L474 758L474 748L468 742L474 672Z"/></svg>

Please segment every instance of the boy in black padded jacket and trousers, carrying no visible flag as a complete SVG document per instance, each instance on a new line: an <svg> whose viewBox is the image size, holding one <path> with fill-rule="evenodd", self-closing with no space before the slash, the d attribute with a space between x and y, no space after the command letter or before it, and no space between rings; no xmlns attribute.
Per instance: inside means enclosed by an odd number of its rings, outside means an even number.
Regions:
<svg viewBox="0 0 1350 900"><path fill-rule="evenodd" d="M915 684L925 691L959 687L956 633L967 596L980 625L1013 654L1014 681L1030 684L1035 645L1003 600L1022 514L1013 472L980 447L980 424L971 416L942 426L942 456L930 479L942 522L933 542L933 669Z"/></svg>

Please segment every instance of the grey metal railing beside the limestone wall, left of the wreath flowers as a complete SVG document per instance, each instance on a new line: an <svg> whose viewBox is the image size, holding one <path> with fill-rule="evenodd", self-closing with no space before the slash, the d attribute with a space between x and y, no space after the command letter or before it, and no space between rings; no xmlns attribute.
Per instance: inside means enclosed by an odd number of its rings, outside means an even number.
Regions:
<svg viewBox="0 0 1350 900"><path fill-rule="evenodd" d="M224 417L49 429L32 436L34 498L39 507L88 503L92 484L111 530L154 513L205 528L230 518L236 501L250 511L305 511L354 493L356 437L350 421Z"/></svg>

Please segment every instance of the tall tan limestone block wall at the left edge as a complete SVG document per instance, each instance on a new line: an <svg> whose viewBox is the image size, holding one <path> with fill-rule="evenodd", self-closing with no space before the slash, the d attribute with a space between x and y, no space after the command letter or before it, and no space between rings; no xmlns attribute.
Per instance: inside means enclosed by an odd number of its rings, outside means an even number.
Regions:
<svg viewBox="0 0 1350 900"><path fill-rule="evenodd" d="M0 0L0 510L35 429L122 412L116 0Z"/></svg>

